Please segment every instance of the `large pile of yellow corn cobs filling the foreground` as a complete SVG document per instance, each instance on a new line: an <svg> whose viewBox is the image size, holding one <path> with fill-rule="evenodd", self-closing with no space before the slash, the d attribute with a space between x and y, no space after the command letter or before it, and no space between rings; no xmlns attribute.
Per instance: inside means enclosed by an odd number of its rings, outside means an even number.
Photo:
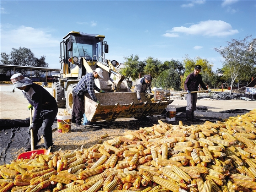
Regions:
<svg viewBox="0 0 256 192"><path fill-rule="evenodd" d="M256 109L203 125L159 121L88 149L34 154L0 166L0 192L256 192L255 124Z"/></svg>

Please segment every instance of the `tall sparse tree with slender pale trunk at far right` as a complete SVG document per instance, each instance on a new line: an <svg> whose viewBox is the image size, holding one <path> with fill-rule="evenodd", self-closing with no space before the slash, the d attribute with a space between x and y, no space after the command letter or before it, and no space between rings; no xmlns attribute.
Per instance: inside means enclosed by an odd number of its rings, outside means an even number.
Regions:
<svg viewBox="0 0 256 192"><path fill-rule="evenodd" d="M253 68L256 65L256 38L252 39L252 35L246 36L242 40L231 39L231 42L226 42L225 47L214 48L223 57L223 68L225 76L231 79L232 92L233 83L236 78L243 76L242 74L250 73L248 66Z"/></svg>

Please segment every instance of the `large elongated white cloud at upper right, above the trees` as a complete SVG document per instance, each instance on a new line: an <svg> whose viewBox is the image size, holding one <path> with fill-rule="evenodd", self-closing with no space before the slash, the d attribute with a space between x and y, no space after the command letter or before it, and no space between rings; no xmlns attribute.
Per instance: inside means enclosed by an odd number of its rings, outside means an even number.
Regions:
<svg viewBox="0 0 256 192"><path fill-rule="evenodd" d="M218 37L239 33L237 29L232 29L232 26L229 23L220 20L201 21L190 27L173 27L171 32Z"/></svg>

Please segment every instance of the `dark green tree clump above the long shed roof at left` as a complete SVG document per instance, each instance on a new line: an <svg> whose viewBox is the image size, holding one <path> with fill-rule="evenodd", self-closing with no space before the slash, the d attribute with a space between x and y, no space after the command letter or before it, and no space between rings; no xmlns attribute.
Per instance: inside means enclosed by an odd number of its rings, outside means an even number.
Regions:
<svg viewBox="0 0 256 192"><path fill-rule="evenodd" d="M20 66L33 66L33 67L48 67L45 62L45 56L37 58L34 53L28 48L20 47L18 49L12 48L11 53L8 55L6 52L1 53L1 64L4 65L20 65ZM3 72L3 71L2 71ZM6 71L7 72L7 71ZM5 72L5 73L6 73ZM15 72L26 74L26 69L17 68ZM39 73L39 72L37 72ZM38 75L38 74L36 74Z"/></svg>

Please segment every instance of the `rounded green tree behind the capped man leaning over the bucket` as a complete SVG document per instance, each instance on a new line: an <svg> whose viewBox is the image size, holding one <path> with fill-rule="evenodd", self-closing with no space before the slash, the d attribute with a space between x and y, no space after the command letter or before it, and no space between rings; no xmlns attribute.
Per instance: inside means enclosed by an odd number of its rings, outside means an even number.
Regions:
<svg viewBox="0 0 256 192"><path fill-rule="evenodd" d="M153 78L158 77L162 71L160 71L160 66L162 62L153 57L148 57L146 60L146 66L144 67L145 74L150 74Z"/></svg>

